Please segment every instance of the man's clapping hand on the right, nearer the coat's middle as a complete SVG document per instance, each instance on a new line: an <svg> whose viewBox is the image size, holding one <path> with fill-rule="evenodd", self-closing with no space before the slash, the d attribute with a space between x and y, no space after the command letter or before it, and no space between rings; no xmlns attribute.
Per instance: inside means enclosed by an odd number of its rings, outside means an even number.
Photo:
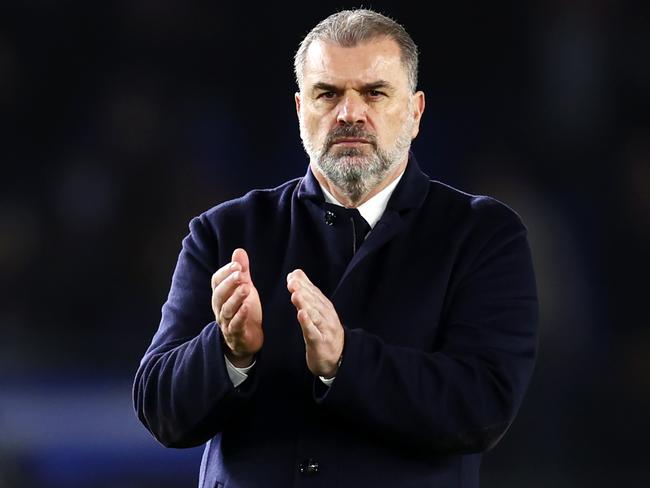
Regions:
<svg viewBox="0 0 650 488"><path fill-rule="evenodd" d="M301 269L287 275L287 289L298 311L307 367L317 376L336 376L345 334L334 305Z"/></svg>

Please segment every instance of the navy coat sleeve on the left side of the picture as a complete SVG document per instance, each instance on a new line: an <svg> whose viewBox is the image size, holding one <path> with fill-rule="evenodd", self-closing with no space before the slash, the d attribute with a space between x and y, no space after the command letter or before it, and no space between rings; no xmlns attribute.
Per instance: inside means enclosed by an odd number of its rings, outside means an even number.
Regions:
<svg viewBox="0 0 650 488"><path fill-rule="evenodd" d="M228 376L210 306L218 243L204 219L190 222L160 326L133 385L139 419L168 447L193 447L212 438L256 383L254 371L237 388Z"/></svg>

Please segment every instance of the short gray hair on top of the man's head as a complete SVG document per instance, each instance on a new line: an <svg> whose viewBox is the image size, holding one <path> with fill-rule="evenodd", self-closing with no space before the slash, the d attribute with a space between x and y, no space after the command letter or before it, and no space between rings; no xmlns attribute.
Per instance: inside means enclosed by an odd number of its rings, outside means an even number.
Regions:
<svg viewBox="0 0 650 488"><path fill-rule="evenodd" d="M418 48L404 27L393 19L368 9L341 10L320 21L300 43L293 60L298 87L307 49L314 41L329 41L342 47L354 47L364 41L388 37L397 43L412 92L418 84Z"/></svg>

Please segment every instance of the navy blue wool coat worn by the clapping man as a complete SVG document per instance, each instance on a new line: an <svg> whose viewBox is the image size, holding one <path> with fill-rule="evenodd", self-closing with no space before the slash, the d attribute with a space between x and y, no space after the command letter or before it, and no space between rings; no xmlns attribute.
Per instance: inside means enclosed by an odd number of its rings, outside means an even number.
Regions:
<svg viewBox="0 0 650 488"><path fill-rule="evenodd" d="M323 201L308 171L190 222L136 374L140 420L166 446L206 443L201 487L477 487L481 453L513 421L535 361L524 225L492 198L430 181L413 157L356 254L350 221L326 219ZM265 335L234 388L210 278L237 247ZM345 327L330 388L306 366L286 289L295 268Z"/></svg>

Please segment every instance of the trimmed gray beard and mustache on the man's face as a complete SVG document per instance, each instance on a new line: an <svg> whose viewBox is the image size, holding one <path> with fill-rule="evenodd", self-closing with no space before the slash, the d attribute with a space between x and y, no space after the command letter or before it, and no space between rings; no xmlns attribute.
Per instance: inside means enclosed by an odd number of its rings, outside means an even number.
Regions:
<svg viewBox="0 0 650 488"><path fill-rule="evenodd" d="M356 206L406 159L411 147L411 129L412 124L405 126L395 141L395 145L389 151L383 151L377 147L376 138L363 133L363 129L358 126L334 131L323 144L323 150L318 154L314 154L314 148L307 143L304 137L303 145L316 167L348 197L352 205ZM372 152L368 154L355 147L332 152L332 141L341 135L367 138L370 141Z"/></svg>

